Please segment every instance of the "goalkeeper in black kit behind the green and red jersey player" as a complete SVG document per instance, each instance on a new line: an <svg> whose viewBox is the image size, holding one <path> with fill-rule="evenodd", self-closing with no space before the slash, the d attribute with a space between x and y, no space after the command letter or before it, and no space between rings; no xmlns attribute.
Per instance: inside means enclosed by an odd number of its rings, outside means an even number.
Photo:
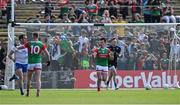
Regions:
<svg viewBox="0 0 180 105"><path fill-rule="evenodd" d="M112 38L110 40L110 45L108 47L110 49L111 52L114 53L114 59L109 59L108 62L108 68L109 68L109 76L108 76L108 80L107 80L107 89L109 87L109 82L111 81L111 79L113 79L114 82L114 86L115 86L115 90L118 89L117 87L117 83L116 83L116 67L117 67L117 57L119 57L119 54L121 52L121 48L119 46L117 46L117 40L116 38Z"/></svg>

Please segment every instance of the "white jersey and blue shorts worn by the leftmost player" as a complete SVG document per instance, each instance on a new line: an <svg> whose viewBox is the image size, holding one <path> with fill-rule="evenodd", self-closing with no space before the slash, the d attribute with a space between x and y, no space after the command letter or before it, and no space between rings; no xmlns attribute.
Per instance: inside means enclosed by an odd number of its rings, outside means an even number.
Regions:
<svg viewBox="0 0 180 105"><path fill-rule="evenodd" d="M22 45L20 45L22 46ZM17 46L17 47L20 47ZM22 69L23 72L27 72L28 66L28 49L17 50L16 47L13 47L12 51L15 53L15 69Z"/></svg>

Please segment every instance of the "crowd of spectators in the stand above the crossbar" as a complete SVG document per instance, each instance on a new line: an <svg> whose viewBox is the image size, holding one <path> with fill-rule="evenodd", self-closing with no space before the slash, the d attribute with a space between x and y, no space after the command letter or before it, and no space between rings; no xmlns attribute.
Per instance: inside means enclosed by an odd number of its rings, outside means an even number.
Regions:
<svg viewBox="0 0 180 105"><path fill-rule="evenodd" d="M9 20L10 0L1 1L1 18L6 15ZM27 2L30 0L17 0L20 4ZM47 0L43 1L42 5L44 5L44 17L46 15L51 17L53 10L59 10L59 16L54 16L56 19L61 20L64 15L67 15L69 20L73 19L78 23L100 21L104 17L104 10L109 11L109 18L117 19L118 14L121 14L123 21L127 23L180 22L180 17L174 16L174 4L171 4L170 0L84 0L81 7L72 5L69 0Z"/></svg>

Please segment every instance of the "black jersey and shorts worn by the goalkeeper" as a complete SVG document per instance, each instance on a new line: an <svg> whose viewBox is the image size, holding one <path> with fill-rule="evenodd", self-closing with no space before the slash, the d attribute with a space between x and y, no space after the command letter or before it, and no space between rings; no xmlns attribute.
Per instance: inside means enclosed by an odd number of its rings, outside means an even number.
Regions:
<svg viewBox="0 0 180 105"><path fill-rule="evenodd" d="M118 46L112 46L112 45L110 45L108 48L114 53L114 59L113 60L109 59L108 66L109 67L111 67L111 66L117 67L117 57L119 56L119 54L121 52L121 48Z"/></svg>

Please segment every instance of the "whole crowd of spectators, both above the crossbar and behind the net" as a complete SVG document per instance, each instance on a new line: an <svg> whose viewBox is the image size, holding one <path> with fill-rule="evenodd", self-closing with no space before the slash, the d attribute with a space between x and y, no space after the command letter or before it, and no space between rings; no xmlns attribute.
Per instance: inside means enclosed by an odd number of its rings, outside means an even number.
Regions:
<svg viewBox="0 0 180 105"><path fill-rule="evenodd" d="M83 8L70 5L68 0L59 0L58 8L51 0L45 2L44 11L26 22L34 23L176 23L178 16L169 0L86 0ZM130 8L130 12L129 12ZM59 16L52 13L59 9ZM2 10L2 15L8 14ZM42 19L43 17L43 19ZM32 32L41 31L40 27L27 28L29 40ZM118 70L167 70L169 69L170 50L175 31L171 27L57 27L47 26L45 33L50 35L44 40L49 45L51 56L60 49L63 58L56 59L64 67L72 69L94 69L91 49L97 47L97 39L116 38L121 48ZM177 34L180 26L176 27ZM175 46L180 52L179 43ZM2 48L1 48L2 49ZM175 50L174 49L174 50ZM2 52L1 54L4 54ZM0 55L0 57L2 57ZM3 59L1 60L3 63ZM180 69L180 60L176 62ZM173 63L172 63L173 65ZM173 69L172 67L171 69ZM1 70L3 72L3 70ZM1 74L0 74L1 78Z"/></svg>

